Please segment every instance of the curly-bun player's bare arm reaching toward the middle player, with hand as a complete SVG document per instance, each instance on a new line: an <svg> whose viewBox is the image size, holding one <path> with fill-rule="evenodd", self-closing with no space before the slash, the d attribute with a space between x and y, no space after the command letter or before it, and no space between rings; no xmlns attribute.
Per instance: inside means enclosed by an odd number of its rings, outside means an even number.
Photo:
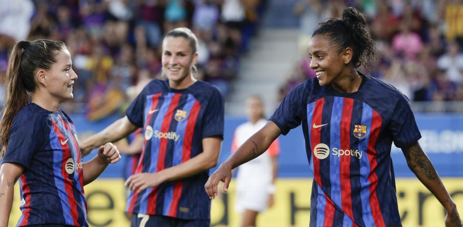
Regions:
<svg viewBox="0 0 463 227"><path fill-rule="evenodd" d="M224 183L224 191L227 191L232 180L232 169L264 153L280 134L280 128L272 121L269 121L262 129L244 142L210 175L208 182L204 186L209 197L214 199L217 196L217 185L220 181Z"/></svg>

